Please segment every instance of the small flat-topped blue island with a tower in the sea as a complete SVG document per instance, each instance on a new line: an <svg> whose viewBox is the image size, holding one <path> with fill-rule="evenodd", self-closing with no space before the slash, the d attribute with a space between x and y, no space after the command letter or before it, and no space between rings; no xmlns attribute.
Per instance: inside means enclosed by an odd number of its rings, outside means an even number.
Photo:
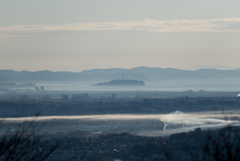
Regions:
<svg viewBox="0 0 240 161"><path fill-rule="evenodd" d="M145 83L139 80L115 79L110 82L94 84L93 86L145 86Z"/></svg>

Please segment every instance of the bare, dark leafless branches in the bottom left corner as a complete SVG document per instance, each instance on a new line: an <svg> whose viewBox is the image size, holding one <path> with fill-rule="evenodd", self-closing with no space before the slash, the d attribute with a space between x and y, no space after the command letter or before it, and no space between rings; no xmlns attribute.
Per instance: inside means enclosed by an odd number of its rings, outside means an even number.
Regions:
<svg viewBox="0 0 240 161"><path fill-rule="evenodd" d="M56 148L37 135L44 124L33 121L19 123L14 132L8 129L0 137L0 161L43 161Z"/></svg>

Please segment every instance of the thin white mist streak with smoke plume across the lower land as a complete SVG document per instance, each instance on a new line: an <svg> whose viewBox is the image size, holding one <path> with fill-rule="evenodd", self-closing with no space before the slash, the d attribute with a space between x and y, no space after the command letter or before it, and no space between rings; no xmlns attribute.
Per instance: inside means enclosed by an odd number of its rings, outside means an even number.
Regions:
<svg viewBox="0 0 240 161"><path fill-rule="evenodd" d="M236 111L234 111L236 113ZM226 112L225 112L226 113ZM95 129L98 129L101 131L101 127L97 124L101 124L102 126L115 126L114 123L111 122L118 122L119 126L122 126L122 129L126 127L126 123L128 124L128 129L130 128L131 124L136 121L140 122L142 125L146 127L148 124L151 126L151 122L154 121L156 125L158 124L156 121L161 121L163 125L163 133L176 133L181 131L189 131L194 128L200 127L200 128L219 128L226 126L228 124L238 125L238 118L240 118L239 114L232 114L232 111L228 111L228 114L225 114L222 112L196 112L196 113L184 113L181 111L175 111L169 114L142 114L142 115L133 115L133 114L109 114L109 115L83 115L83 116L38 116L38 117L20 117L20 118L5 118L3 119L3 123L18 123L23 121L48 121L48 122L66 122L66 121L77 121L80 122L79 126L81 126L81 122L91 122L95 121L94 125L91 125L91 127L94 127ZM227 117L227 119L226 119ZM81 121L82 120L82 121ZM152 121L151 121L152 120ZM107 123L107 122L108 123ZM162 128L162 124L159 122L159 126L155 126L155 130L158 130L159 128ZM69 122L70 123L70 122ZM110 123L110 124L109 124ZM75 125L74 125L75 126ZM170 131L166 132L166 128L170 127ZM71 124L69 124L69 127L71 127ZM89 128L91 128L89 127ZM141 126L140 126L141 127ZM139 128L138 131L141 132L145 129ZM125 130L127 131L127 129ZM159 134L161 135L161 134Z"/></svg>

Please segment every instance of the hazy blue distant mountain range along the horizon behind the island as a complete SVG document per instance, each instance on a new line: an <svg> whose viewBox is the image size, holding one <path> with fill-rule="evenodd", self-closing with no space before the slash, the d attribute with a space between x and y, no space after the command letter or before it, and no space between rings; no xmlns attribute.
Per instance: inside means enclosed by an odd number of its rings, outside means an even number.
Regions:
<svg viewBox="0 0 240 161"><path fill-rule="evenodd" d="M52 71L0 70L1 82L66 82L66 81L110 81L114 79L134 80L192 80L192 79L240 79L240 68L234 70L199 69L195 71L174 68L136 67L132 69L92 69L79 73Z"/></svg>

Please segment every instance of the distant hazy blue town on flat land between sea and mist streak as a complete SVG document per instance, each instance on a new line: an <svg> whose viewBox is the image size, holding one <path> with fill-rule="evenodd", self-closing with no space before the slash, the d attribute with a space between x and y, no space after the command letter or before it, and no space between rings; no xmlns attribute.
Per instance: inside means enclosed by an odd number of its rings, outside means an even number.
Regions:
<svg viewBox="0 0 240 161"><path fill-rule="evenodd" d="M38 112L51 116L238 109L239 93L204 90L47 91L36 86L35 90L3 90L0 93L0 116L34 116Z"/></svg>

